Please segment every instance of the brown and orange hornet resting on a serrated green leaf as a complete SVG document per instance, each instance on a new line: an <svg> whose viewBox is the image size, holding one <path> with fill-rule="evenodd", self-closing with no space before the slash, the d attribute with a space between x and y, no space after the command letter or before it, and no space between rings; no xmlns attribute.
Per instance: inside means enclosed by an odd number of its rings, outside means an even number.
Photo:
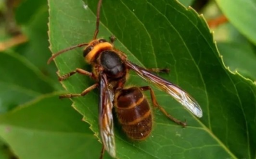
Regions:
<svg viewBox="0 0 256 159"><path fill-rule="evenodd" d="M64 94L60 98L73 98L84 96L95 88L99 88L99 125L102 138L102 152L106 150L112 157L116 156L115 135L112 109L115 108L117 119L126 135L134 140L142 140L150 135L152 131L152 112L150 105L143 95L144 91L150 91L151 100L154 107L170 118L175 123L186 126L186 122L181 122L168 114L156 101L153 89L150 86L126 87L129 70L135 71L142 79L152 82L158 88L171 95L180 102L192 114L202 117L203 113L199 104L181 88L175 84L163 79L153 72L166 72L167 69L160 68L142 68L130 62L125 53L114 47L115 37L111 36L108 42L105 39L97 39L100 23L100 8L102 0L98 2L96 29L93 39L89 43L78 44L68 47L53 54L48 60L48 64L60 54L85 46L83 57L91 66L91 72L76 68L63 76L59 80L68 79L70 76L78 73L89 76L96 83L78 94Z"/></svg>

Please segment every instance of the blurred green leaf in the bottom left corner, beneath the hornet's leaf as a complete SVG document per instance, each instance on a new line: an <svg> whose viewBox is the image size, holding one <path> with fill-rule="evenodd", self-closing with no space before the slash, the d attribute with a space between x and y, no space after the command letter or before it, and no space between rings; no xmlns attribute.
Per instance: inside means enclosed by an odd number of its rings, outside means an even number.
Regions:
<svg viewBox="0 0 256 159"><path fill-rule="evenodd" d="M99 158L100 143L70 105L58 94L41 96L1 115L0 136L21 159Z"/></svg>

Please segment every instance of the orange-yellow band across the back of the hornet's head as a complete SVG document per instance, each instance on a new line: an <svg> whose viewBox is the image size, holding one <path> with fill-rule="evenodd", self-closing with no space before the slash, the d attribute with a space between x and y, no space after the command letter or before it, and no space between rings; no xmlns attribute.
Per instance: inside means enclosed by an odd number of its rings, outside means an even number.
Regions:
<svg viewBox="0 0 256 159"><path fill-rule="evenodd" d="M87 63L91 63L94 58L96 57L96 55L101 51L101 50L108 50L108 49L112 49L113 45L111 45L108 42L104 42L104 43L99 43L97 45L95 45L93 47L93 49L89 52L89 54L85 57L85 60Z"/></svg>

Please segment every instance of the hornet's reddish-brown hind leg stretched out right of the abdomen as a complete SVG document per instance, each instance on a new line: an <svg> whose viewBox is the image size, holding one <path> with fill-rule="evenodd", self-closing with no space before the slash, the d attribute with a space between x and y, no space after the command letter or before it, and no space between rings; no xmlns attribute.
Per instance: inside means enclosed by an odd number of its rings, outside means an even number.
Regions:
<svg viewBox="0 0 256 159"><path fill-rule="evenodd" d="M168 113L166 112L166 110L165 110L163 107L161 107L161 106L157 103L156 98L155 98L155 95L154 95L154 91L152 90L151 87L149 87L149 86L144 86L144 87L140 87L140 89L141 89L141 91L148 91L148 90L150 91L151 100L152 100L154 106L155 106L156 108L160 109L160 111L161 111L163 114L165 114L169 119L171 119L172 121L174 121L175 123L177 123L177 124L179 124L179 125L181 125L181 126L183 126L183 127L185 127L185 126L187 125L186 121L185 121L185 122L181 122L180 120L176 119L176 118L173 117L172 115L168 114Z"/></svg>

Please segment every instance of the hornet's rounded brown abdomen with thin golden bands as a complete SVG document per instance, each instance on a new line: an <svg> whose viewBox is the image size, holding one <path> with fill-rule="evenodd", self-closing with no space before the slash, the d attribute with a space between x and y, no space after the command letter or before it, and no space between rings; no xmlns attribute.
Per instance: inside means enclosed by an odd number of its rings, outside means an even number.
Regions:
<svg viewBox="0 0 256 159"><path fill-rule="evenodd" d="M138 87L120 91L115 98L115 111L122 129L129 138L142 140L150 135L151 109Z"/></svg>

